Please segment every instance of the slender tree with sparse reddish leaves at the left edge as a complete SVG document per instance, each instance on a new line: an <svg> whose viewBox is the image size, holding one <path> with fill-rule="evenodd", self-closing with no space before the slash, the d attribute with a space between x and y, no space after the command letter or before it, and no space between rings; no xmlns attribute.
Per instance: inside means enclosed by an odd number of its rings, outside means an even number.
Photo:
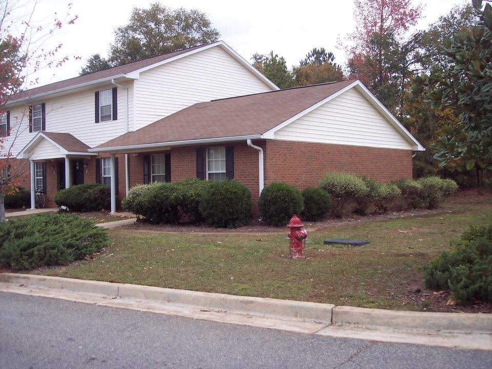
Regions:
<svg viewBox="0 0 492 369"><path fill-rule="evenodd" d="M12 149L22 130L26 112L11 117L5 105L25 89L37 84L36 74L43 68L58 68L67 57L58 57L60 45L49 48L50 37L77 16L54 14L51 22L33 22L39 0L20 3L0 0L0 222L5 221L4 194L18 188L19 178L27 173L28 160L16 160ZM26 14L26 7L30 7ZM12 118L12 119L11 119Z"/></svg>

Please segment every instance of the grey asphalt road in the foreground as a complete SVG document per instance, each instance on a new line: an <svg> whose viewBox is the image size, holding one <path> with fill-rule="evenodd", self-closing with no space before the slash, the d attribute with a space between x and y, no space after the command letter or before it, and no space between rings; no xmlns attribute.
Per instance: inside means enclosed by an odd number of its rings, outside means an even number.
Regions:
<svg viewBox="0 0 492 369"><path fill-rule="evenodd" d="M0 368L490 369L492 352L298 334L0 292Z"/></svg>

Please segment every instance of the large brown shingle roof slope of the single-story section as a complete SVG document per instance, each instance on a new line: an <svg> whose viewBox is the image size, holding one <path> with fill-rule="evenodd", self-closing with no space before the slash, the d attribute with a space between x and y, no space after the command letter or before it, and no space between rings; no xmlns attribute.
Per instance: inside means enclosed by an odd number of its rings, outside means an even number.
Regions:
<svg viewBox="0 0 492 369"><path fill-rule="evenodd" d="M198 103L95 149L261 135L354 81L298 87Z"/></svg>

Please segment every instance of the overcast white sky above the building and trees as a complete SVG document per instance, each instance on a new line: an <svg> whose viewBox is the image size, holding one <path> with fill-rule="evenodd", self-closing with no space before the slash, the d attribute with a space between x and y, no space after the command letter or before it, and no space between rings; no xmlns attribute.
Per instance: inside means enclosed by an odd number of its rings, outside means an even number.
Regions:
<svg viewBox="0 0 492 369"><path fill-rule="evenodd" d="M29 2L25 9L29 9ZM470 0L468 0L470 1ZM58 56L69 61L56 70L39 72L39 85L76 77L86 60L95 53L107 57L114 40L113 30L128 23L134 6L148 8L156 0L72 0L70 14L78 15L74 25L63 27L49 42L63 44ZM418 28L425 29L439 16L447 14L455 5L466 0L414 0L424 4L424 18ZM63 16L70 0L38 0L36 20L51 20L54 13ZM277 2L249 0L166 0L169 8L198 9L208 15L212 26L228 44L251 63L254 53L283 56L291 68L313 48L325 48L335 55L335 62L343 64L345 55L339 49L339 39L354 31L354 0L324 0L320 2ZM47 47L49 49L49 45ZM80 56L81 60L75 60ZM30 78L34 79L31 75Z"/></svg>

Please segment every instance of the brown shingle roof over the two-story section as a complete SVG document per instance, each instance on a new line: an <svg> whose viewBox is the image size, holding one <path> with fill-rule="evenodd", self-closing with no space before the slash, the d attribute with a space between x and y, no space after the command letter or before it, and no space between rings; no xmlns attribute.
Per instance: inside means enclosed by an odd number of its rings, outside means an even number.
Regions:
<svg viewBox="0 0 492 369"><path fill-rule="evenodd" d="M56 92L57 90L63 90L71 87L76 87L80 85L86 85L90 84L95 81L100 81L100 80L105 80L105 79L110 79L112 77L120 76L122 74L128 74L131 72L135 72L139 69L149 67L153 64L160 63L161 61L171 59L173 57L176 57L181 54L186 54L190 51L194 51L196 49L200 49L203 47L206 47L211 44L207 45L200 45L200 46L195 46L192 48L184 49L184 50L179 50L175 51L169 54L165 55L159 55L159 56L154 56L151 58L143 59L143 60L138 60L135 61L134 63L129 63L125 64L122 66L90 73L90 74L85 74L82 76L70 78L70 79L65 79L63 81L55 82L49 85L45 86L40 86L36 87L33 89L29 89L23 92L20 92L18 95L13 96L10 101L14 102L17 99L23 99L26 97L35 97L36 95L41 95L41 94L46 94L50 92Z"/></svg>

